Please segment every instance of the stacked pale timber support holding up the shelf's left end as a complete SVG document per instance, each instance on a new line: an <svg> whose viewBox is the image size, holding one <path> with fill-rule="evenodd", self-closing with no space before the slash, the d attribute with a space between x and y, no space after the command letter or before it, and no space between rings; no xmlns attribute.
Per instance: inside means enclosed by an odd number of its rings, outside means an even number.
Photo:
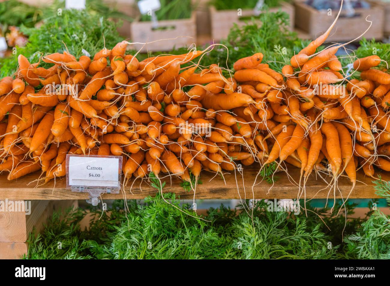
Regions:
<svg viewBox="0 0 390 286"><path fill-rule="evenodd" d="M1 200L5 203L5 197L1 195ZM8 200L13 204L16 200ZM24 204L25 200L18 199L19 204ZM77 200L31 201L31 213L22 211L0 211L0 259L20 259L23 254L27 254L27 238L32 229L37 232L43 229L53 211L65 210L68 207L78 207Z"/></svg>

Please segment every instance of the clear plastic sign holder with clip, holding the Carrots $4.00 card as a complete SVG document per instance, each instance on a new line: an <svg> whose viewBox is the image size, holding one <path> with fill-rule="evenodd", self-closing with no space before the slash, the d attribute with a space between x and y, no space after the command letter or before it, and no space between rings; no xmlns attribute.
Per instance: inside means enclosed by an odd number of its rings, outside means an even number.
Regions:
<svg viewBox="0 0 390 286"><path fill-rule="evenodd" d="M121 179L122 156L66 155L66 187L89 193L89 204L99 204L103 193L118 194Z"/></svg>

